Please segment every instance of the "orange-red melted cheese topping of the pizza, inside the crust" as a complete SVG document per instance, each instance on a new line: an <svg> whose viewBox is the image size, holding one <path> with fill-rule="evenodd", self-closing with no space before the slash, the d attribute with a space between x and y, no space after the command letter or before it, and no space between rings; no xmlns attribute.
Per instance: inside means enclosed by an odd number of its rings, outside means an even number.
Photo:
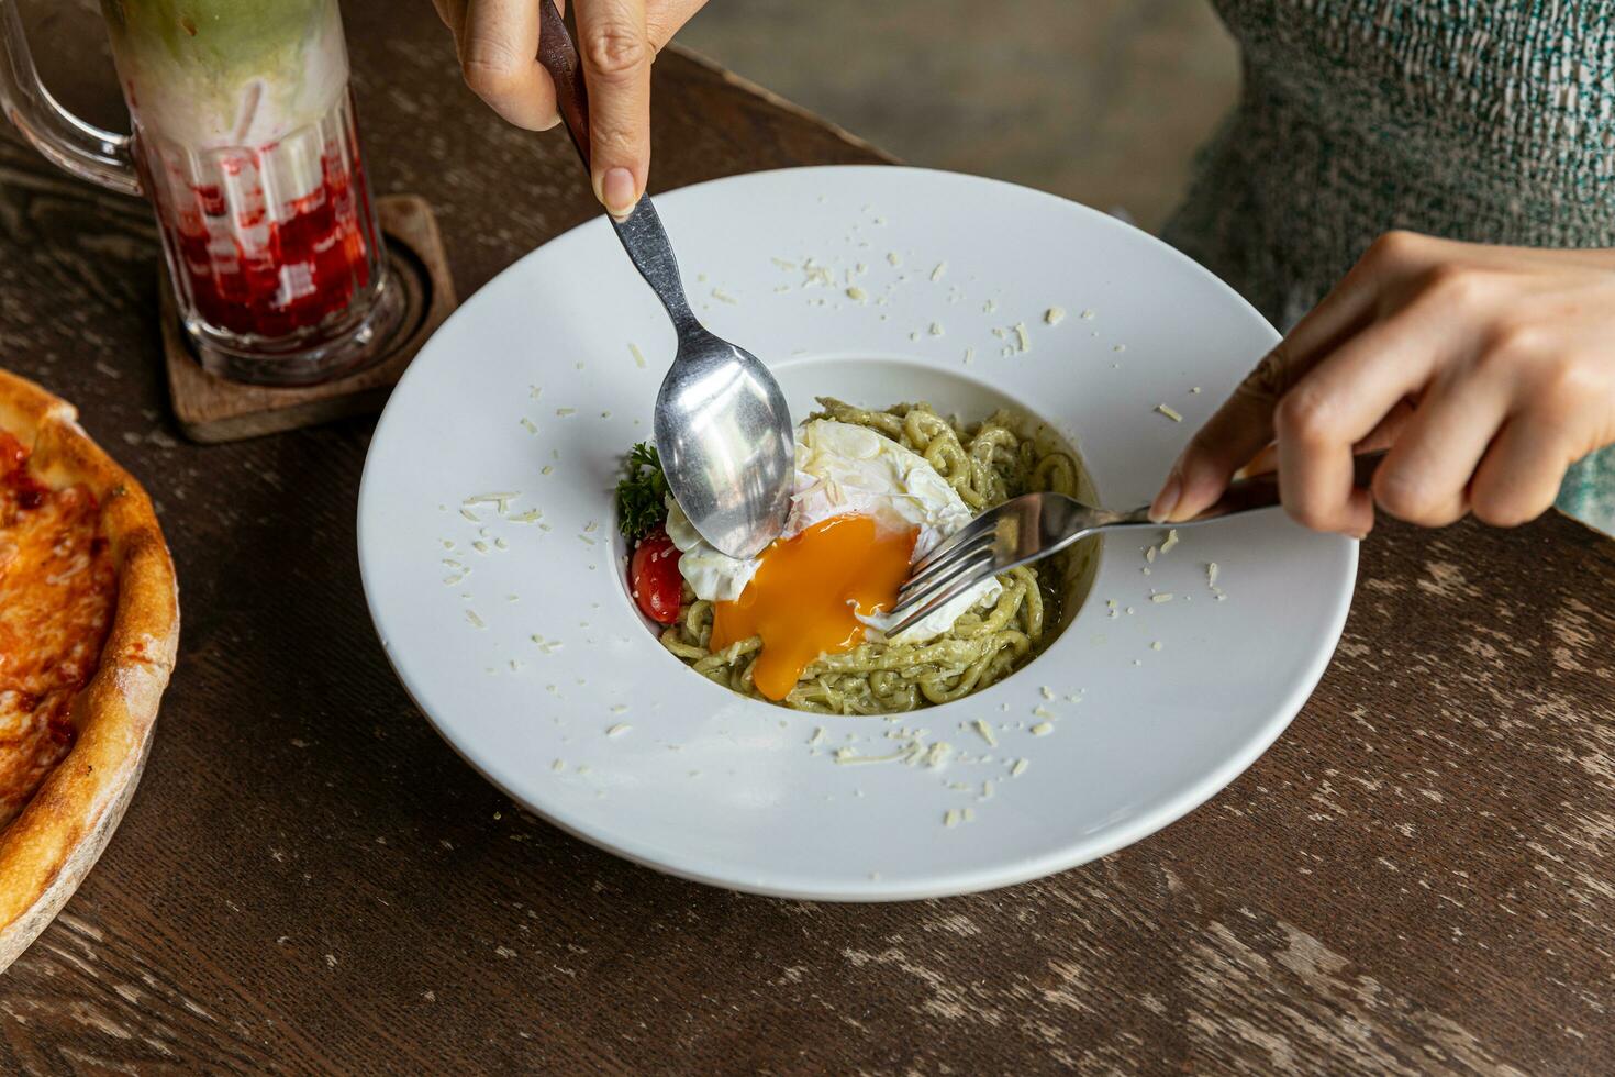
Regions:
<svg viewBox="0 0 1615 1077"><path fill-rule="evenodd" d="M0 431L0 827L73 748L73 698L100 664L115 593L95 497L39 483Z"/></svg>

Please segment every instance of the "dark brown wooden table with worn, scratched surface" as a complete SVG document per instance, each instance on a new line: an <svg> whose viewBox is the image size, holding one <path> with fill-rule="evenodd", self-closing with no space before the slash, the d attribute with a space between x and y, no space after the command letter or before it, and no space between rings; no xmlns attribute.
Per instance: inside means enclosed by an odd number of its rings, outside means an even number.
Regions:
<svg viewBox="0 0 1615 1077"><path fill-rule="evenodd" d="M36 34L81 27L81 6ZM378 192L462 294L591 213L459 84L426 0L347 3ZM36 8L37 10L37 8ZM87 29L84 29L87 27ZM58 50L60 52L60 50ZM118 115L82 48L47 78ZM879 155L686 57L657 189ZM1591 1072L1615 1058L1615 546L1381 526L1289 731L1153 838L998 893L827 906L633 867L415 712L365 614L370 421L197 447L147 210L0 137L0 363L150 488L184 636L141 790L0 979L6 1072ZM1605 1062L1599 1064L1597 1059Z"/></svg>

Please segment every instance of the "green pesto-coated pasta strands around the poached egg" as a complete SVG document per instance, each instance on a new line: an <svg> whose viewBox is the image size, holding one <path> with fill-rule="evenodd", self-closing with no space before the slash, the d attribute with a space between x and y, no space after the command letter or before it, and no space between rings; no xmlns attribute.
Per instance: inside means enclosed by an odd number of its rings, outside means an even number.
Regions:
<svg viewBox="0 0 1615 1077"><path fill-rule="evenodd" d="M995 412L974 426L959 426L925 404L885 412L820 397L832 418L870 428L924 457L971 509L980 512L1032 491L1084 492L1076 459L1016 433L1021 423ZM866 639L845 654L812 662L780 702L824 714L893 714L959 699L1005 678L1035 657L1059 630L1061 604L1087 554L1072 554L1014 568L998 576L1003 591L961 615L951 630L924 643ZM751 680L759 638L719 652L712 635L712 602L685 585L678 620L662 631L662 646L691 668L745 696L762 699Z"/></svg>

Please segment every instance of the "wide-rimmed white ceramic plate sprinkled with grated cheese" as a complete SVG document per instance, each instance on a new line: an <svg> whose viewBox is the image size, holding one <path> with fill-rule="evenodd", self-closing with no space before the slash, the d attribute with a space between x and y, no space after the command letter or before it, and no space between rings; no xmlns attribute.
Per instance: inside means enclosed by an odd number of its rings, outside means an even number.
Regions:
<svg viewBox="0 0 1615 1077"><path fill-rule="evenodd" d="M1150 236L988 179L809 168L657 205L698 313L770 362L798 418L816 394L925 399L964 417L1008 402L1079 444L1113 505L1155 492L1182 441L1276 339ZM835 284L808 284L804 258ZM848 270L866 302L848 297ZM1059 325L1045 323L1050 307L1068 312ZM1032 347L1005 357L1016 323ZM1003 886L1137 841L1210 798L1273 743L1329 660L1355 543L1261 513L1185 531L1143 575L1143 543L1111 539L1087 606L1048 652L904 719L963 757L840 765L835 748L880 752L891 727L711 685L662 651L628 601L610 489L622 454L649 436L672 344L606 221L591 221L505 270L438 331L392 392L360 491L365 593L404 686L472 765L586 841L795 898ZM483 520L472 523L462 501L484 492L520 497L504 517L475 505ZM512 520L531 509L551 530ZM444 560L472 572L446 583L457 570ZM1226 601L1206 586L1213 560ZM1151 602L1151 591L1176 597ZM1106 599L1124 612L1110 617ZM1043 712L1053 733L1034 736ZM996 748L961 728L975 719L995 727ZM628 728L609 735L617 725ZM817 727L824 741L811 748ZM1029 764L1009 777L1017 759Z"/></svg>

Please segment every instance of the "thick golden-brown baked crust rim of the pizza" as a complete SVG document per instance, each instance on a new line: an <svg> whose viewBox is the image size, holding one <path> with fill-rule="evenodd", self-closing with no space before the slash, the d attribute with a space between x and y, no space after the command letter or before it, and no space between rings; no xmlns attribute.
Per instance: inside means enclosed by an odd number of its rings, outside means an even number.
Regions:
<svg viewBox="0 0 1615 1077"><path fill-rule="evenodd" d="M118 575L100 667L73 701L76 738L0 833L0 970L34 941L95 864L145 767L179 644L179 594L152 501L76 421L73 405L0 370L0 430L32 447L50 486L86 484Z"/></svg>

